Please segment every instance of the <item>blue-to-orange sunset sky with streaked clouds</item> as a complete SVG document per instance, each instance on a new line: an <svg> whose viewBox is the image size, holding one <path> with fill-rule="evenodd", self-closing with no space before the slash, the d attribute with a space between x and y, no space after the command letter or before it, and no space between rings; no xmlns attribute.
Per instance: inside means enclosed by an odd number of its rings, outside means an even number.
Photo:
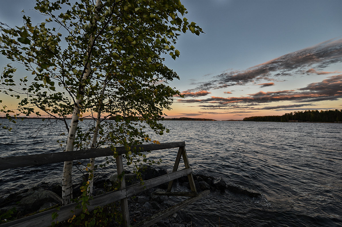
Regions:
<svg viewBox="0 0 342 227"><path fill-rule="evenodd" d="M0 21L22 25L32 0L0 0ZM182 0L188 32L165 64L180 76L167 117L243 119L342 108L342 0ZM44 21L44 20L40 20ZM8 63L0 57L0 65Z"/></svg>

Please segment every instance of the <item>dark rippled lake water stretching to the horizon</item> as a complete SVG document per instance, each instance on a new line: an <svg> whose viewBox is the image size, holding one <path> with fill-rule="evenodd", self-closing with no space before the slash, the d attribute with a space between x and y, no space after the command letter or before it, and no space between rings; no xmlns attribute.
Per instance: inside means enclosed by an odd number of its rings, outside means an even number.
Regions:
<svg viewBox="0 0 342 227"><path fill-rule="evenodd" d="M4 120L4 119L0 119ZM30 122L30 124L29 124ZM0 156L58 150L58 130L39 120L0 131ZM185 141L195 173L222 177L248 193L213 192L186 208L196 224L209 226L342 226L342 124L232 121L165 121L170 133L159 142ZM176 149L154 151L172 169ZM43 165L2 171L0 191L59 181L62 166Z"/></svg>

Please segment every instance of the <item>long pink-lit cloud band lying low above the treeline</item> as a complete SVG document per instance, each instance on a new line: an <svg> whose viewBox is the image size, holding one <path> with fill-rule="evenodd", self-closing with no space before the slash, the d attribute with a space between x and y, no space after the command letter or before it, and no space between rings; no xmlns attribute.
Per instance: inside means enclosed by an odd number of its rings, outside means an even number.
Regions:
<svg viewBox="0 0 342 227"><path fill-rule="evenodd" d="M264 92L260 91L254 94L249 94L245 97L216 97L211 96L206 99L178 99L182 103L210 103L210 105L202 105L206 108L225 108L230 105L256 105L261 103L271 103L278 101L293 101L293 102L317 102L327 100L337 100L342 98L342 74L331 76L327 79L310 83L304 88L297 90L283 90Z"/></svg>

